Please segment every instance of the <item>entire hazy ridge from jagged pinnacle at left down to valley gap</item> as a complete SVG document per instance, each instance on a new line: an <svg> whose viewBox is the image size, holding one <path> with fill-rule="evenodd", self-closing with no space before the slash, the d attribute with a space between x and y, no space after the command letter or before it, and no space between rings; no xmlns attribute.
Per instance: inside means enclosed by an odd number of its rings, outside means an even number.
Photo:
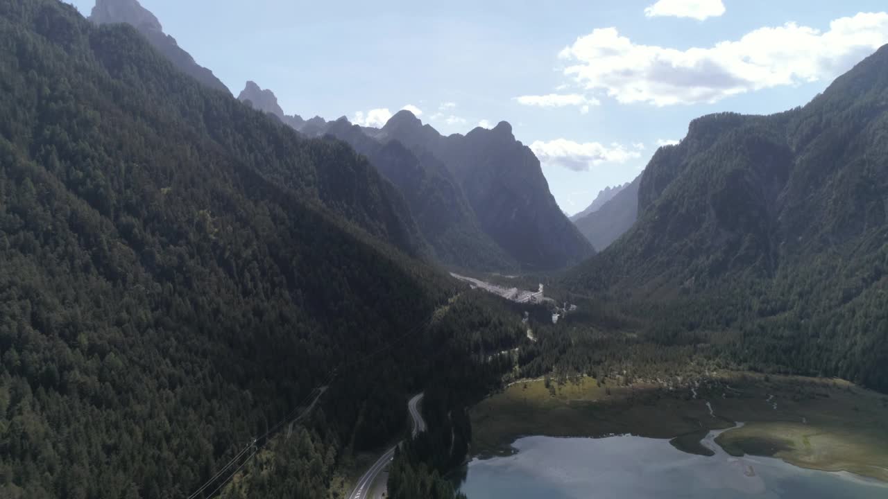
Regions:
<svg viewBox="0 0 888 499"><path fill-rule="evenodd" d="M273 92L251 82L239 99L307 136L329 134L367 154L399 186L444 264L485 271L551 270L594 254L559 210L539 161L515 139L509 123L444 137L407 110L375 129L345 117L303 122L287 116ZM406 147L387 146L392 142Z"/></svg>

